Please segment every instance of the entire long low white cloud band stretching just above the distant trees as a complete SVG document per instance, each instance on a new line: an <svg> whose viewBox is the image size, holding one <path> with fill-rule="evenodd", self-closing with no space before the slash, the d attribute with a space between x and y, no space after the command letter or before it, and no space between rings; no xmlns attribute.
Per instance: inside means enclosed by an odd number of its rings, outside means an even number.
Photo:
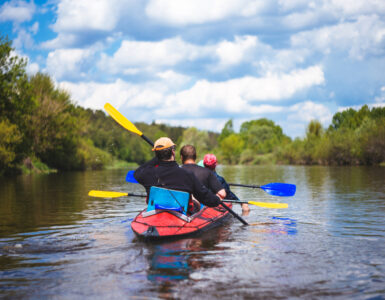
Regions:
<svg viewBox="0 0 385 300"><path fill-rule="evenodd" d="M165 120L184 118L208 118L208 115L248 115L262 117L284 111L280 105L263 102L292 97L295 93L313 85L322 84L323 73L314 66L289 74L271 75L266 78L245 77L226 82L198 81L190 89L174 92L170 78L181 78L173 72L158 74L160 80L145 84L131 84L122 80L113 83L74 84L63 82L74 100L83 106L101 109L110 101L117 108L127 110L134 120ZM254 102L261 102L255 104ZM215 117L214 117L215 118Z"/></svg>

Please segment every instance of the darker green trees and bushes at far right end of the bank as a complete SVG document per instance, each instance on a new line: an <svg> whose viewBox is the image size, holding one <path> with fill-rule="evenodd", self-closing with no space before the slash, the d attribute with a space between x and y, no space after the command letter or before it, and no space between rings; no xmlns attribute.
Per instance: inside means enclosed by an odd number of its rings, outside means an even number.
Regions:
<svg viewBox="0 0 385 300"><path fill-rule="evenodd" d="M280 149L291 164L374 165L385 161L385 108L348 109L333 116L325 132L311 121L303 140Z"/></svg>

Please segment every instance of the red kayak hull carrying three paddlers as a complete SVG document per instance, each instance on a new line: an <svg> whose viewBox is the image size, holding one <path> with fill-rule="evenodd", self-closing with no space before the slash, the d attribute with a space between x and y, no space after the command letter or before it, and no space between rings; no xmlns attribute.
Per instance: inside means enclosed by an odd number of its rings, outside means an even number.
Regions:
<svg viewBox="0 0 385 300"><path fill-rule="evenodd" d="M232 207L231 204L227 206ZM229 212L220 206L204 206L192 216L167 209L145 209L132 221L131 228L144 239L180 238L219 226L229 216Z"/></svg>

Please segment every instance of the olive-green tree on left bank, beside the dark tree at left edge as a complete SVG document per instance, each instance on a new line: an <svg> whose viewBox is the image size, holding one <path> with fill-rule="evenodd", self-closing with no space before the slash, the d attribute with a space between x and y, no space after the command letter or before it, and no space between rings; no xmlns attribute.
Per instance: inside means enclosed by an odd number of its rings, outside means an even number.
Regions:
<svg viewBox="0 0 385 300"><path fill-rule="evenodd" d="M84 161L77 158L82 122L72 115L69 94L56 89L48 75L38 73L30 83L38 103L30 121L33 153L53 168L84 169Z"/></svg>

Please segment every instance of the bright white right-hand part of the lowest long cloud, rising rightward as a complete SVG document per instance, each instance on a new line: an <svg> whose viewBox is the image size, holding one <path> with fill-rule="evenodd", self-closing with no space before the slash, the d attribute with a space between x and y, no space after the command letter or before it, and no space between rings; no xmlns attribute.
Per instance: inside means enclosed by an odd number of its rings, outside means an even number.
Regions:
<svg viewBox="0 0 385 300"><path fill-rule="evenodd" d="M164 105L156 111L160 116L185 114L195 117L201 116L202 112L218 111L233 115L279 112L282 107L255 106L253 103L289 99L297 92L323 82L319 66L264 78L243 77L224 82L200 80L188 90L165 97ZM180 103L188 103L188 111Z"/></svg>

